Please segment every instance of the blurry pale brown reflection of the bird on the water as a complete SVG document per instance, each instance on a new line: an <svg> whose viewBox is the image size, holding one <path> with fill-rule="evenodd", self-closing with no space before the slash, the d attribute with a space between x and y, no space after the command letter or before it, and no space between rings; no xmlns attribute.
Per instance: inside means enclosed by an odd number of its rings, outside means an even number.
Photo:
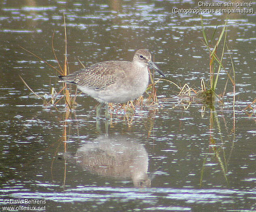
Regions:
<svg viewBox="0 0 256 212"><path fill-rule="evenodd" d="M151 187L148 153L131 138L101 135L78 148L76 158L91 174L132 179L134 187Z"/></svg>

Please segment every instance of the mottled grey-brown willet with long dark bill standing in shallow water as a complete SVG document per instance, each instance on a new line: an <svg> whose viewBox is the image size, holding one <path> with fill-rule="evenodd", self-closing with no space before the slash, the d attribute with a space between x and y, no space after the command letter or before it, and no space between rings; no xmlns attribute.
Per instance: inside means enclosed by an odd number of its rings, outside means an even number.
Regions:
<svg viewBox="0 0 256 212"><path fill-rule="evenodd" d="M151 61L151 53L139 49L133 61L105 61L83 68L67 76L59 76L66 83L77 85L83 93L99 101L97 118L103 104L105 116L110 119L108 103L123 103L140 97L148 86L148 67L163 72Z"/></svg>

